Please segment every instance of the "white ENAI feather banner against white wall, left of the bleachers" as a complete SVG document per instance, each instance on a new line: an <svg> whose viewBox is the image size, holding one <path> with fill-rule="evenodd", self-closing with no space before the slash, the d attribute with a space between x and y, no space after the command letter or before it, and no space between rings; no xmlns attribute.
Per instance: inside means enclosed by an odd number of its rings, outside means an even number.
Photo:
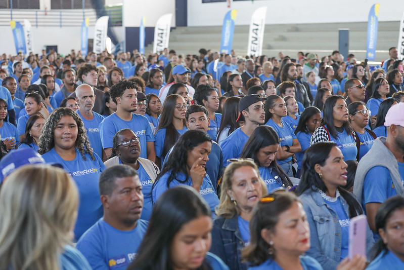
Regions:
<svg viewBox="0 0 404 270"><path fill-rule="evenodd" d="M170 40L172 14L164 14L161 16L154 27L154 41L153 41L153 53L158 53L168 48L168 42Z"/></svg>

